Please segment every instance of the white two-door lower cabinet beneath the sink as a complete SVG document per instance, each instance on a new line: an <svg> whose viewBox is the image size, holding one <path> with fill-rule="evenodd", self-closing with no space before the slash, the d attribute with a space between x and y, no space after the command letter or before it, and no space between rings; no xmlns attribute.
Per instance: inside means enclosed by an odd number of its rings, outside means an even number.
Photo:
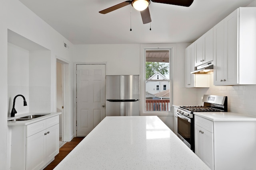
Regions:
<svg viewBox="0 0 256 170"><path fill-rule="evenodd" d="M54 159L59 153L59 116L50 117L24 127L16 126L12 129L13 135L22 133L18 129L23 129L25 134L19 138L12 137L11 169L14 170L40 170ZM18 141L16 141L18 140ZM20 145L19 141L24 141L26 145ZM22 144L22 143L21 143ZM23 147L18 153L15 150ZM21 151L21 152L20 152ZM25 162L17 162L16 159L25 157Z"/></svg>

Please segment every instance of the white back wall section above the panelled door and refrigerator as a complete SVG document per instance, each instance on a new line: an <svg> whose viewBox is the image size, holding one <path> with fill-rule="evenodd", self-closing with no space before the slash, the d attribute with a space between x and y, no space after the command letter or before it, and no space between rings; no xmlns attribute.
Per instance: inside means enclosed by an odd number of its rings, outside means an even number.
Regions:
<svg viewBox="0 0 256 170"><path fill-rule="evenodd" d="M74 62L106 62L106 75L140 74L140 45L74 45Z"/></svg>

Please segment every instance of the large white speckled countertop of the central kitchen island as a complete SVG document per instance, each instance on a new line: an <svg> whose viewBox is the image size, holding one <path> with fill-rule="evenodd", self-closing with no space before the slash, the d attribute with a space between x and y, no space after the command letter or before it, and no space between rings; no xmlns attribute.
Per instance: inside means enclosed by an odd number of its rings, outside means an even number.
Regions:
<svg viewBox="0 0 256 170"><path fill-rule="evenodd" d="M105 117L54 170L208 170L157 116Z"/></svg>

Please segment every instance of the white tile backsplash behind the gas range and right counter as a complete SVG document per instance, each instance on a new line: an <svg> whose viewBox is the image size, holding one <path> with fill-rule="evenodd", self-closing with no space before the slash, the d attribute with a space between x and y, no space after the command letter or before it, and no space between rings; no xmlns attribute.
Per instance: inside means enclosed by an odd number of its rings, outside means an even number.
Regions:
<svg viewBox="0 0 256 170"><path fill-rule="evenodd" d="M228 111L256 116L256 85L211 85L210 88L198 88L197 98L200 105L203 104L201 97L204 94L228 96Z"/></svg>

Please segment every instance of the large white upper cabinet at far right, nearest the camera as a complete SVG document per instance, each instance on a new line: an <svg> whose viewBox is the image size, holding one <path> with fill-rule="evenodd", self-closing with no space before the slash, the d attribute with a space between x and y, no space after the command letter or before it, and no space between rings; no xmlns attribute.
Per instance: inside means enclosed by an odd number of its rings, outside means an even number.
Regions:
<svg viewBox="0 0 256 170"><path fill-rule="evenodd" d="M256 84L255 21L256 7L243 7L213 27L214 85Z"/></svg>

